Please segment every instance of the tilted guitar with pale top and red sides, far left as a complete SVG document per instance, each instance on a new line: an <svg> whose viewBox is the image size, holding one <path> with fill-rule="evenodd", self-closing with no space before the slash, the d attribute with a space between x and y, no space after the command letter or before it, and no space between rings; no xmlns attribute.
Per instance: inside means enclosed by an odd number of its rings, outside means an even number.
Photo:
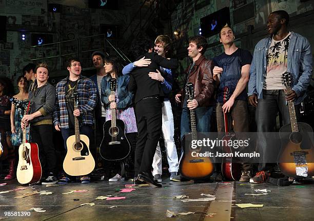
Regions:
<svg viewBox="0 0 314 221"><path fill-rule="evenodd" d="M16 99L11 102L16 108L24 109L23 105ZM24 111L24 114L27 110ZM22 144L18 148L18 164L16 169L17 181L21 184L34 183L42 178L42 165L39 159L37 143L29 143L26 140L26 124L23 129Z"/></svg>

